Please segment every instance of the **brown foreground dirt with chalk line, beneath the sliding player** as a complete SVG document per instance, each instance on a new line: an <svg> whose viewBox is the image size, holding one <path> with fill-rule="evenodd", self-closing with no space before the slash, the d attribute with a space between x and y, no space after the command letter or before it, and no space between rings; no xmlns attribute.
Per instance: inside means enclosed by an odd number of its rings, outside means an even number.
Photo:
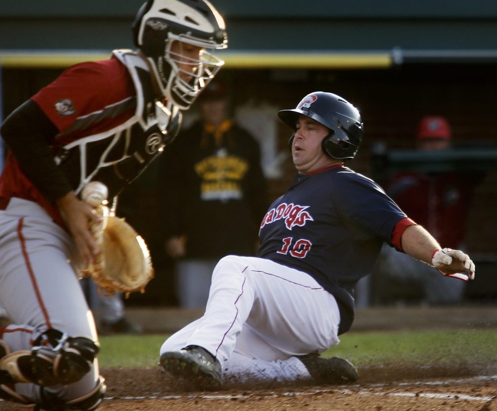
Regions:
<svg viewBox="0 0 497 411"><path fill-rule="evenodd" d="M495 371L394 365L360 368L358 383L347 386L245 385L199 392L159 368L108 368L101 370L108 390L99 410L497 411ZM0 410L26 411L26 406L0 402Z"/></svg>

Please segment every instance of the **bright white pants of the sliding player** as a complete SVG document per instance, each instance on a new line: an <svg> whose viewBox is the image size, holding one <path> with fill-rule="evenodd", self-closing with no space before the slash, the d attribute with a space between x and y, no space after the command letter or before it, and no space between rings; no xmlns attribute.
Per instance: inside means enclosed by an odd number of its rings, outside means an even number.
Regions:
<svg viewBox="0 0 497 411"><path fill-rule="evenodd" d="M168 338L160 353L199 345L223 377L280 382L308 378L295 355L338 344L335 298L311 276L271 260L228 255L212 273L205 314Z"/></svg>

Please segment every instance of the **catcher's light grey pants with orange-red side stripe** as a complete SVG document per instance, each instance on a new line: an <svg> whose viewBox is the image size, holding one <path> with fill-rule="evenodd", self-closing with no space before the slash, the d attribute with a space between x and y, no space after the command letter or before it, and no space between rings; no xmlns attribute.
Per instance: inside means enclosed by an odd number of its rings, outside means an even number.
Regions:
<svg viewBox="0 0 497 411"><path fill-rule="evenodd" d="M92 313L69 262L74 254L70 235L37 203L12 198L0 211L0 301L13 322L1 338L12 351L30 350L38 329L59 329L97 341ZM98 375L95 360L81 381L50 391L71 401L91 392ZM39 400L34 384L16 384L15 390L31 401Z"/></svg>

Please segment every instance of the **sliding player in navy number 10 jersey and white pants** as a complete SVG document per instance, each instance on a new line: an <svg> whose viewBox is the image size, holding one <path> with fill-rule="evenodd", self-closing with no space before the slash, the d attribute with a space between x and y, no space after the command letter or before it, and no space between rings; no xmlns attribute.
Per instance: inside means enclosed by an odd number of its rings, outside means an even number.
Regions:
<svg viewBox="0 0 497 411"><path fill-rule="evenodd" d="M474 264L409 219L371 179L344 165L363 137L359 110L329 92L306 95L279 117L297 168L263 218L257 257L228 255L212 273L205 314L168 338L161 364L198 388L231 379L288 384L354 382L348 361L319 353L354 319L353 289L387 242L436 275L474 278Z"/></svg>

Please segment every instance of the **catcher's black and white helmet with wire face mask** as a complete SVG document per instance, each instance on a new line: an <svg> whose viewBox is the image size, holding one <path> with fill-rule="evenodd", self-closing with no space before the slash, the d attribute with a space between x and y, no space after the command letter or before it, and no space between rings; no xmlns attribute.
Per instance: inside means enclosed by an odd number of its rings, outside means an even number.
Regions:
<svg viewBox="0 0 497 411"><path fill-rule="evenodd" d="M132 26L133 39L152 64L164 96L188 109L199 92L214 77L224 62L214 50L225 49L228 39L224 20L207 0L148 0ZM203 48L199 60L172 53L174 41ZM180 78L180 64L196 66L192 80ZM190 73L189 73L190 74Z"/></svg>

